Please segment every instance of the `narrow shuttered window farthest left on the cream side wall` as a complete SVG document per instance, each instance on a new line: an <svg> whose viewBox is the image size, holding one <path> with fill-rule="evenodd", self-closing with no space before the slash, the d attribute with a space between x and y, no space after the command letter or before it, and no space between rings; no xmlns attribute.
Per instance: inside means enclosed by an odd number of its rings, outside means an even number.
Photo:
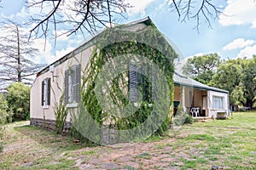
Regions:
<svg viewBox="0 0 256 170"><path fill-rule="evenodd" d="M42 105L50 105L50 78L42 82Z"/></svg>

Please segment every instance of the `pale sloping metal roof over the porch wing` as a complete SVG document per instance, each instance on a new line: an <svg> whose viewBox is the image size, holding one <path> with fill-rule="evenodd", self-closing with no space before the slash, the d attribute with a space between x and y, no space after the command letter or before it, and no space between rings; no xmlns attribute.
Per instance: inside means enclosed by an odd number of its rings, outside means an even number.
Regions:
<svg viewBox="0 0 256 170"><path fill-rule="evenodd" d="M174 71L173 75L174 84L177 86L187 86L191 88L198 88L198 89L204 89L204 90L212 90L215 92L222 92L225 94L229 94L229 91L219 89L219 88L212 88L210 86L207 86L206 84L203 84L201 82L197 82L189 77L184 76L183 74Z"/></svg>

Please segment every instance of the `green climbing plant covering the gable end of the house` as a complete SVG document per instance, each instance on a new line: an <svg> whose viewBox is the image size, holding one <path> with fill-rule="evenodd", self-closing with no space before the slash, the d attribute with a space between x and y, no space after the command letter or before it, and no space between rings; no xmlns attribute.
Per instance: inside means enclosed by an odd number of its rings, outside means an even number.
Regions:
<svg viewBox="0 0 256 170"><path fill-rule="evenodd" d="M152 129L153 133L162 134L165 132L166 128L170 126L174 88L174 67L172 63L173 59L177 57L177 54L152 22L147 21L147 23L144 24L147 25L146 28L138 31L129 31L129 28L126 29L127 26L115 26L112 29L103 31L93 39L95 46L90 57L90 63L85 67L82 74L83 82L81 88L81 102L78 111L79 115L83 115L85 114L84 111L87 111L96 124L100 126L107 124L113 129L124 131L142 125L149 116L153 116L153 111L157 113L154 116L154 120L160 119L161 114L163 114L161 108L166 106L167 99L158 98L161 100L155 102L151 90L153 84L150 82L150 79L143 77L143 75L140 77L140 81L137 84L137 88L142 94L142 102L137 104L137 109L134 110L134 113L128 116L111 114L110 110L114 110L116 105L118 105L119 108L129 106L129 69L119 73L113 80L107 80L105 87L107 87L108 90L109 100L112 101L112 104L108 104L107 109L102 107L101 99L97 97L96 93L103 93L96 91L96 79L99 77L104 65L111 59L123 55L127 57L127 54L129 54L131 56L142 56L150 60L154 65L158 65L170 89L170 91L165 91L167 94L159 94L159 96L166 95L170 100L167 104L167 108L169 108L167 109L169 110L167 111L168 114L165 116L165 120L161 123L157 131L153 131L155 128L154 123L150 124L149 122L147 124L149 127L143 127L142 129L137 128L137 131L133 131L132 133L143 133L144 129ZM125 63L125 59L119 59L119 65L129 64L127 64L127 62ZM111 65L111 69L114 71L119 65ZM143 65L143 63L139 65ZM156 78L160 77L158 74L155 76ZM154 105L155 103L160 105ZM131 110L132 109L134 109L134 107L131 107ZM118 112L120 110L116 111ZM82 116L77 116L76 120L80 122L79 124L84 120L82 124L90 127L88 132L91 130L94 132L101 131L100 128L95 127L94 123L88 119L83 119ZM117 135L119 136L119 141L125 141L125 135L122 133ZM101 137L99 136L97 138L100 139Z"/></svg>

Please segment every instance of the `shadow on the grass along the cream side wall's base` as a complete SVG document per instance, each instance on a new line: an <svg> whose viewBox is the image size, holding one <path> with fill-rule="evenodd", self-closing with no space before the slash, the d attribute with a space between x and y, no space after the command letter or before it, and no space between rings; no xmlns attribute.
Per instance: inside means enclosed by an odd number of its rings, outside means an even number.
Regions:
<svg viewBox="0 0 256 170"><path fill-rule="evenodd" d="M26 138L35 140L38 144L45 147L52 148L53 150L80 150L85 147L96 147L92 144L75 143L74 139L68 135L56 134L53 131L45 130L41 127L33 127L30 125L23 125L14 127L15 131L26 136Z"/></svg>

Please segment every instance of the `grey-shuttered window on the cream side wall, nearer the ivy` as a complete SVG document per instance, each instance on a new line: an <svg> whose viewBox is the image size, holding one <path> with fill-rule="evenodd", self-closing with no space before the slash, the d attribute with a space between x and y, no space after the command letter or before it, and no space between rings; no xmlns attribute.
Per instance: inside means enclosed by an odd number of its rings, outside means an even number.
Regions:
<svg viewBox="0 0 256 170"><path fill-rule="evenodd" d="M74 65L65 71L65 102L79 103L80 100L80 65Z"/></svg>

